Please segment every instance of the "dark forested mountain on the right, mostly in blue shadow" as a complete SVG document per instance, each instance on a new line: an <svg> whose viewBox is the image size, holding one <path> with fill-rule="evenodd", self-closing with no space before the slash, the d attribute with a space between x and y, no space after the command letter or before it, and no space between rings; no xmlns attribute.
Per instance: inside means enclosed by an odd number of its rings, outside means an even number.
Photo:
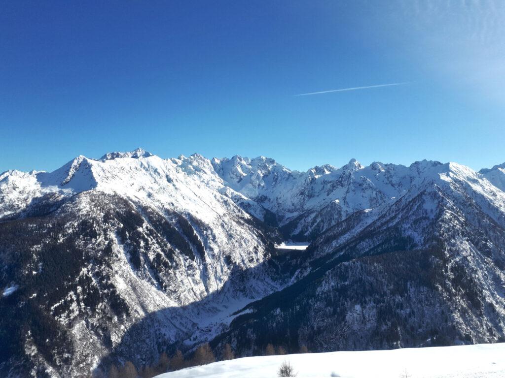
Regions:
<svg viewBox="0 0 505 378"><path fill-rule="evenodd" d="M405 193L323 232L299 279L244 307L214 347L243 355L267 343L331 351L505 340L505 193L455 163L409 170Z"/></svg>

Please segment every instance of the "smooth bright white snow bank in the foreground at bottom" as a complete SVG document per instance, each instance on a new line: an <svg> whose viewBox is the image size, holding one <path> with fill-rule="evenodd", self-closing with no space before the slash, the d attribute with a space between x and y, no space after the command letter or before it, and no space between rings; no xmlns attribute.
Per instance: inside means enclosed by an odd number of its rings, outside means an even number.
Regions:
<svg viewBox="0 0 505 378"><path fill-rule="evenodd" d="M394 350L245 357L190 367L158 378L276 377L289 361L298 377L412 378L505 377L505 343Z"/></svg>

